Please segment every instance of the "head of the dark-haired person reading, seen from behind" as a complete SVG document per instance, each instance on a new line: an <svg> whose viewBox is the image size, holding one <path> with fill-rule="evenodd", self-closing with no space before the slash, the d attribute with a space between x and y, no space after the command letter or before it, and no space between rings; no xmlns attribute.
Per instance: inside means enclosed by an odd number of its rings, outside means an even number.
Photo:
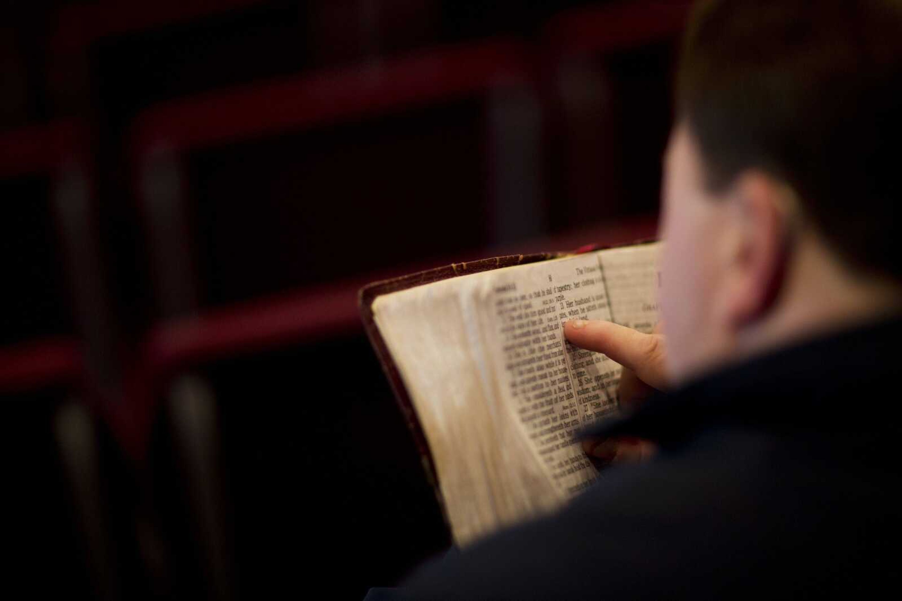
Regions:
<svg viewBox="0 0 902 601"><path fill-rule="evenodd" d="M661 305L683 379L896 305L902 0L713 0L686 32Z"/></svg>

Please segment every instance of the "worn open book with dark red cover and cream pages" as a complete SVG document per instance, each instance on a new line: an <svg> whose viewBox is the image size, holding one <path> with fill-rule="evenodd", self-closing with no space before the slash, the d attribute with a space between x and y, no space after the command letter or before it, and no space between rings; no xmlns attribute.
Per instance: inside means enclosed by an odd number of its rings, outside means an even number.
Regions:
<svg viewBox="0 0 902 601"><path fill-rule="evenodd" d="M575 434L616 413L621 368L570 345L562 324L650 332L659 248L499 257L361 290L457 544L554 509L597 478Z"/></svg>

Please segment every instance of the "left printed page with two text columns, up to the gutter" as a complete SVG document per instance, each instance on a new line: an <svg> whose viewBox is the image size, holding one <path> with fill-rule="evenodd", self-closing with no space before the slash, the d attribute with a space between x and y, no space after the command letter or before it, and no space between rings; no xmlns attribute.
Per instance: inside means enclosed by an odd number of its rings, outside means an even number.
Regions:
<svg viewBox="0 0 902 601"><path fill-rule="evenodd" d="M616 363L564 339L568 319L611 319L594 253L493 273L491 353L514 418L565 496L597 475L575 442L585 424L616 410Z"/></svg>

